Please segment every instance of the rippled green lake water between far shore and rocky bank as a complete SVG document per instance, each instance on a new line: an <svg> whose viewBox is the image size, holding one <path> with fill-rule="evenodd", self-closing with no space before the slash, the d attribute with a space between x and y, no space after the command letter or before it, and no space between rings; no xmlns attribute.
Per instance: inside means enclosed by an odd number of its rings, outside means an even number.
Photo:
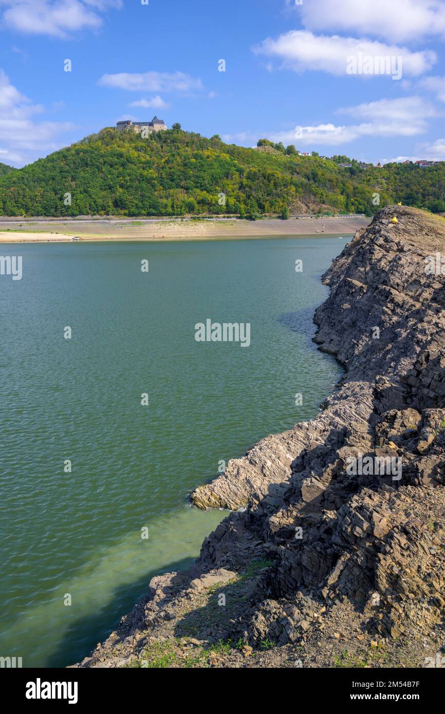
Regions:
<svg viewBox="0 0 445 714"><path fill-rule="evenodd" d="M83 658L224 517L189 492L314 416L341 370L312 316L345 242L1 246L23 256L0 276L1 656ZM206 318L250 323L251 345L196 342Z"/></svg>

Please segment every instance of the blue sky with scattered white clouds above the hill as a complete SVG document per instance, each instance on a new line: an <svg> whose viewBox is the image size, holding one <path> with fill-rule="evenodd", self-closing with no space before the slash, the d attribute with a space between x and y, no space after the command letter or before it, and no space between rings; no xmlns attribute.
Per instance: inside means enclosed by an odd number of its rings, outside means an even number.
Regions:
<svg viewBox="0 0 445 714"><path fill-rule="evenodd" d="M445 0L0 0L0 162L155 114L242 146L445 160L444 41Z"/></svg>

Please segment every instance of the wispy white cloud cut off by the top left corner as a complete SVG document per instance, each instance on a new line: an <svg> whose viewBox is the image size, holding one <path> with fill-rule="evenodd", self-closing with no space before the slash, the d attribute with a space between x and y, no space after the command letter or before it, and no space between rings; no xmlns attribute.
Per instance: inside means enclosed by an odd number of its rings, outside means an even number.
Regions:
<svg viewBox="0 0 445 714"><path fill-rule="evenodd" d="M102 24L98 12L123 6L122 0L0 0L6 27L25 34L66 37Z"/></svg>

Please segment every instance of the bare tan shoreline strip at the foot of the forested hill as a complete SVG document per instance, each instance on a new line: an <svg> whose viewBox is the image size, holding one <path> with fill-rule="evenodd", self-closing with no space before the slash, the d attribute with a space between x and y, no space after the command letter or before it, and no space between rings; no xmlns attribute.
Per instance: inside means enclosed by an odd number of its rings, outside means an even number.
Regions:
<svg viewBox="0 0 445 714"><path fill-rule="evenodd" d="M33 221L0 218L0 243L46 243L73 241L177 241L221 238L279 238L355 233L371 218L290 218L280 221L129 221L83 220ZM9 230L6 230L9 228Z"/></svg>

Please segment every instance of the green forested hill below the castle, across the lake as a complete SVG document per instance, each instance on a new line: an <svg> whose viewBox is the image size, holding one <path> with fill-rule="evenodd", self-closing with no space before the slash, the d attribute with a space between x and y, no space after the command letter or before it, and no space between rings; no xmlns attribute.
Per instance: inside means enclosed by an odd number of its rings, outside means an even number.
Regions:
<svg viewBox="0 0 445 714"><path fill-rule="evenodd" d="M445 162L380 169L353 160L344 167L341 157L299 156L294 146L259 143L244 149L181 129L146 139L103 129L24 169L4 173L0 165L0 215L286 218L289 211L371 215L398 201L445 211Z"/></svg>

